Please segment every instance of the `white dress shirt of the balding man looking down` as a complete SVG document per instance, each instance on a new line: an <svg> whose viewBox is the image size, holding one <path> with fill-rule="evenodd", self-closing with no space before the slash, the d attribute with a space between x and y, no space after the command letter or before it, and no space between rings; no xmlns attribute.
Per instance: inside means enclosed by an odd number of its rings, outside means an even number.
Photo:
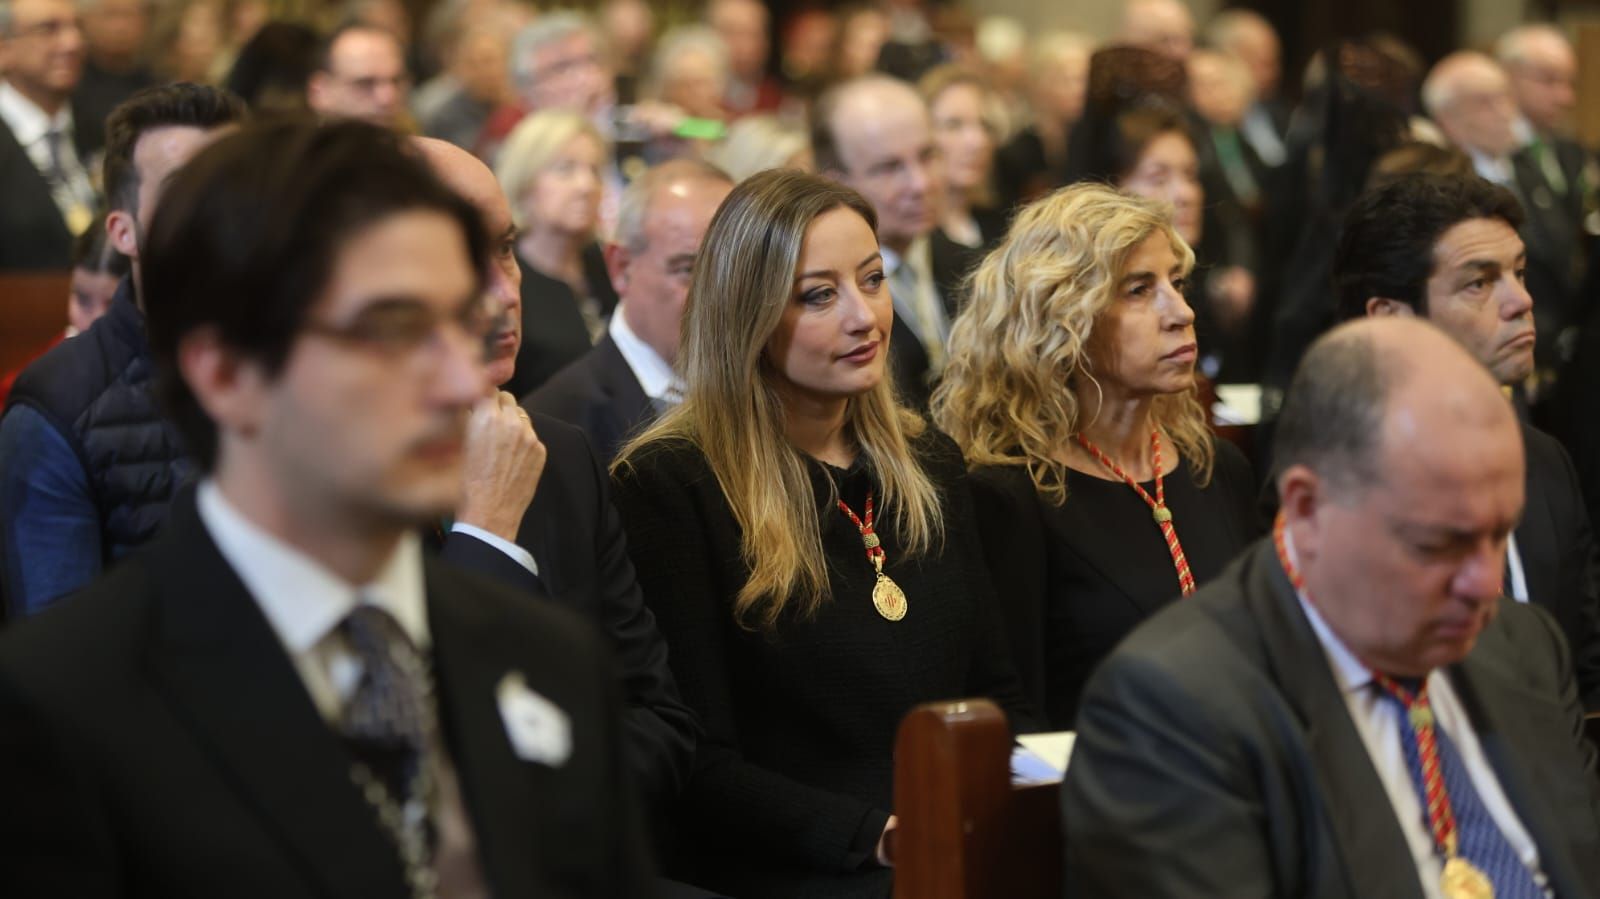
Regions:
<svg viewBox="0 0 1600 899"><path fill-rule="evenodd" d="M1290 534L1285 533L1283 541L1293 560L1294 547ZM1395 702L1384 701L1382 691L1373 685L1371 669L1357 659L1355 653L1328 627L1317 606L1304 593L1296 593L1296 597L1306 611L1306 617L1310 621L1312 630L1317 633L1317 641L1322 643L1323 656L1333 670L1333 680L1344 696L1344 707L1350 712L1350 720L1355 723L1355 733L1362 736L1362 745L1366 747L1366 755L1378 771L1384 793L1389 795L1389 805L1400 822L1400 830L1405 833L1411 859L1416 862L1416 873L1422 881L1422 894L1427 899L1445 899L1438 886L1438 877L1445 865L1434 848L1434 833L1429 829L1422 805L1418 801L1411 768L1406 765L1405 752L1400 747L1400 733L1406 726L1403 721L1405 712ZM1445 672L1435 669L1427 675L1427 701L1434 709L1435 726L1443 728L1456 745L1456 752L1467 769L1467 776L1472 779L1472 787L1483 801L1483 808L1488 809L1494 824L1499 825L1501 833L1506 835L1522 864L1533 872L1534 883L1549 896L1549 881L1539 869L1539 848L1534 845L1533 837L1528 835L1528 829L1522 824L1522 819L1517 817L1510 800L1506 798L1506 790L1501 789L1494 768L1490 765L1488 757L1483 755L1483 745L1472 728L1472 720L1467 717L1466 709L1462 709L1461 699L1456 696Z"/></svg>

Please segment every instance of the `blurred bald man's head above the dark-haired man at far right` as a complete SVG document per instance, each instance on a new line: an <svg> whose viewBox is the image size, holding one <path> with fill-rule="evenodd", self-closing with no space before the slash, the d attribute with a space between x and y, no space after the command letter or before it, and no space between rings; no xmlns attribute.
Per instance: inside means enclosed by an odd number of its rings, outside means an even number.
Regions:
<svg viewBox="0 0 1600 899"><path fill-rule="evenodd" d="M1517 138L1517 106L1506 70L1472 50L1438 61L1422 82L1422 106L1445 136L1467 152L1506 157Z"/></svg>

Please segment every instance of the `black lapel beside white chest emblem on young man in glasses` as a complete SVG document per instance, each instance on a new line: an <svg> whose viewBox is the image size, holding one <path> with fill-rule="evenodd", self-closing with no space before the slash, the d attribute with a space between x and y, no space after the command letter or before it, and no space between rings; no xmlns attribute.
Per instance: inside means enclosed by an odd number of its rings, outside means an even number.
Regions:
<svg viewBox="0 0 1600 899"><path fill-rule="evenodd" d="M485 606L427 561L427 616L445 742L461 781L483 878L494 896L534 896L541 870L534 784L506 736L496 688L509 669Z"/></svg>

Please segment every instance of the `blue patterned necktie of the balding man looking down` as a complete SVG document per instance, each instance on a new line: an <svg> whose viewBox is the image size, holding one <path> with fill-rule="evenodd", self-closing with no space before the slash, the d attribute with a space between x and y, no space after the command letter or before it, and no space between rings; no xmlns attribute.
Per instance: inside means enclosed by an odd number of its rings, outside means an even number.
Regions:
<svg viewBox="0 0 1600 899"><path fill-rule="evenodd" d="M1394 678L1413 696L1421 688L1421 678ZM1395 693L1374 681L1378 694L1394 704L1400 712L1400 749L1405 753L1406 768L1411 771L1411 784L1418 790L1418 801L1422 814L1427 814L1427 789L1424 787L1422 757L1418 749L1416 728L1405 702ZM1496 824L1494 816L1483 805L1472 777L1467 773L1454 741L1445 728L1434 726L1434 742L1438 747L1438 768L1443 773L1445 795L1456 819L1458 854L1472 862L1494 883L1496 899L1544 899L1544 889L1533 880L1533 872L1522 864L1517 849L1506 838ZM1424 821L1424 827L1427 822Z"/></svg>

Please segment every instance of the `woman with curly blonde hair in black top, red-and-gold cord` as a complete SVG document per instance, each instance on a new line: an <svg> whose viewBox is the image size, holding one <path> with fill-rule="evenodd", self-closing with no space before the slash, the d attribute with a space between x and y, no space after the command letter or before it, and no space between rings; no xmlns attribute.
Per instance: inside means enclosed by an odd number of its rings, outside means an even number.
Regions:
<svg viewBox="0 0 1600 899"><path fill-rule="evenodd" d="M950 331L934 421L973 465L1018 669L1056 729L1112 646L1261 533L1250 462L1197 400L1192 264L1162 206L1066 187L1022 208Z"/></svg>

